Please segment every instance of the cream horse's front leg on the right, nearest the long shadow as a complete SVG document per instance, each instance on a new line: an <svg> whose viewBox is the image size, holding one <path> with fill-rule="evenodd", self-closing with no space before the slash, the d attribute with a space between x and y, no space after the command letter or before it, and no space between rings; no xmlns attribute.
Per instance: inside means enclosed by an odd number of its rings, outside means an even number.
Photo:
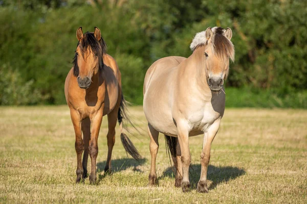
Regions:
<svg viewBox="0 0 307 204"><path fill-rule="evenodd" d="M210 161L211 143L220 127L221 118L218 118L209 127L208 131L204 135L203 151L201 154L202 172L201 178L197 185L197 191L200 193L208 193L207 188L207 170Z"/></svg>

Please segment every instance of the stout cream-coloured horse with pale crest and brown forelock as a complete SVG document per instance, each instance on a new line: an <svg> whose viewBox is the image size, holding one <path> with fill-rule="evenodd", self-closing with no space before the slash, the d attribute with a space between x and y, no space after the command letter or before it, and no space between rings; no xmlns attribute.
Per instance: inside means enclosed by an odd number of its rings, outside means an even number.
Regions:
<svg viewBox="0 0 307 204"><path fill-rule="evenodd" d="M189 137L204 134L197 190L208 192L211 143L224 115L223 84L229 71L229 59L234 61L231 37L230 28L208 28L195 35L190 57L165 57L148 68L143 88L151 154L148 186L156 183L159 133L165 135L177 169L175 186L181 186L184 192L190 187Z"/></svg>

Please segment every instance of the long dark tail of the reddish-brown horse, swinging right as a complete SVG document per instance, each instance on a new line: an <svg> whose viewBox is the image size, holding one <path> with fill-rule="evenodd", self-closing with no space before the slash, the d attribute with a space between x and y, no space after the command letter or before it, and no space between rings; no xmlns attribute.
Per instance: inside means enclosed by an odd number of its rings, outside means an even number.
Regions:
<svg viewBox="0 0 307 204"><path fill-rule="evenodd" d="M124 130L123 120L126 120L127 122L129 122L135 128L134 124L131 122L131 120L129 119L129 117L127 115L126 101L124 99L123 94L121 94L121 101L120 101L120 106L119 106L119 109L118 109L117 119L118 119L120 132L121 132L120 133L120 139L121 139L121 142L122 142L126 152L128 152L129 155L131 155L131 157L133 157L135 160L141 159L141 155L140 155L139 151L134 146L134 144L131 142L131 140L128 138L128 136L123 132L123 130Z"/></svg>

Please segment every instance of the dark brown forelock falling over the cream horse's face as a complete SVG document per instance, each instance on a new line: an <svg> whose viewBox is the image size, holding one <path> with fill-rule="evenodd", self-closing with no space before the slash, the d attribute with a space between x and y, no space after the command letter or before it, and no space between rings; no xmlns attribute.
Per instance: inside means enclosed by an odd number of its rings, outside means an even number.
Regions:
<svg viewBox="0 0 307 204"><path fill-rule="evenodd" d="M221 27L216 28L212 36L212 44L214 52L222 58L230 58L234 61L234 46L230 40L224 36L224 29Z"/></svg>

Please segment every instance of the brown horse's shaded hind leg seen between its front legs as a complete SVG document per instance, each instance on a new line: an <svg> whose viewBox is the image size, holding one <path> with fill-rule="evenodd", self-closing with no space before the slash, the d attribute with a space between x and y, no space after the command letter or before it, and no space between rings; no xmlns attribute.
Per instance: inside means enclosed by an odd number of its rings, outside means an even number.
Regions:
<svg viewBox="0 0 307 204"><path fill-rule="evenodd" d="M87 177L87 160L89 159L89 143L91 139L91 120L90 118L85 118L81 122L82 133L83 133L83 143L84 143L84 152L82 159L83 175L82 179Z"/></svg>

